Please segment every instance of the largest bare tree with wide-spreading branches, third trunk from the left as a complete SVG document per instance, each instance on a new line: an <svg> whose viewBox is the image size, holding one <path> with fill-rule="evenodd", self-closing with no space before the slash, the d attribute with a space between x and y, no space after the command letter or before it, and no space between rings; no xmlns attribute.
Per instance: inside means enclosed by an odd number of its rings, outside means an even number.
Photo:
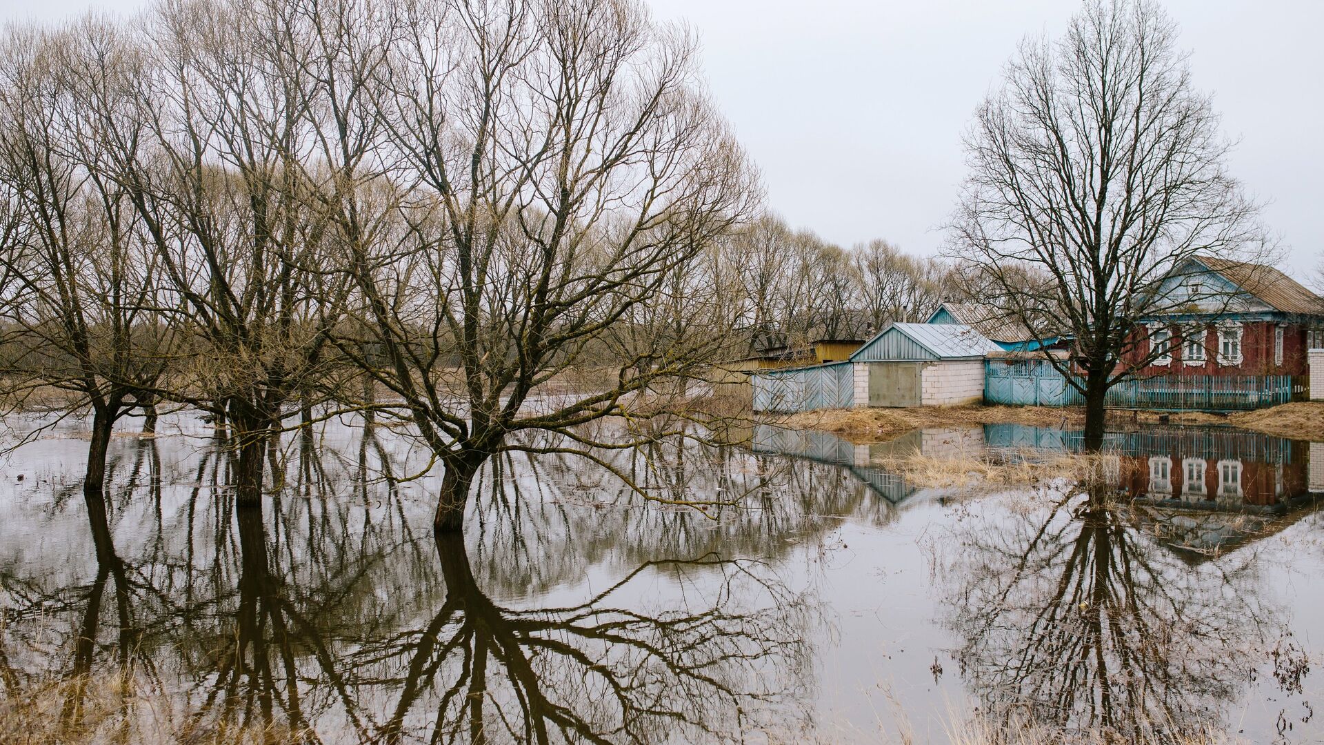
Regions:
<svg viewBox="0 0 1324 745"><path fill-rule="evenodd" d="M726 338L699 313L679 334L618 347L594 388L549 391L600 362L608 331L743 220L756 188L698 91L692 38L632 1L424 1L400 15L380 74L408 229L367 241L340 225L384 361L368 367L444 469L437 530L458 532L493 455L597 460L577 426L646 416L641 394L706 371ZM518 436L539 430L569 439Z"/></svg>

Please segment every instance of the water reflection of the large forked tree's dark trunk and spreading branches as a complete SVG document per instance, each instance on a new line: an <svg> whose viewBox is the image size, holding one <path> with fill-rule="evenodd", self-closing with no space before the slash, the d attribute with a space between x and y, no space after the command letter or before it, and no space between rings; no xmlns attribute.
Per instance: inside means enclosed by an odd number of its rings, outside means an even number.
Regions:
<svg viewBox="0 0 1324 745"><path fill-rule="evenodd" d="M459 540L438 538L437 549L446 601L397 647L409 665L383 729L388 741L426 732L414 717L422 712L434 716L433 737L448 742L735 740L793 704L784 685L802 664L797 601L759 581L773 606L730 610L744 604L737 585L757 579L744 562L657 561L587 602L504 608L474 581ZM646 573L714 569L716 597L696 608L617 604Z"/></svg>

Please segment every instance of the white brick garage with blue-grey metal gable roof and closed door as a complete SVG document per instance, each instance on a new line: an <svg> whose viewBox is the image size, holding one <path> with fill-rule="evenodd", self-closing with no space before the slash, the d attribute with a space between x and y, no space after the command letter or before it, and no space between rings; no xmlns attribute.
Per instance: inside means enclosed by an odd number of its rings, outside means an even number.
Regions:
<svg viewBox="0 0 1324 745"><path fill-rule="evenodd" d="M850 358L855 406L978 403L984 355L1000 350L961 323L892 323Z"/></svg>

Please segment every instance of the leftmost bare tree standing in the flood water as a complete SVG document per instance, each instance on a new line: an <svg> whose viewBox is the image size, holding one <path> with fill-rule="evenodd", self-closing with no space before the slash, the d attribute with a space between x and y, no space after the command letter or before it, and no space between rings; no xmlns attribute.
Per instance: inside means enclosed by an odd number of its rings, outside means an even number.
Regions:
<svg viewBox="0 0 1324 745"><path fill-rule="evenodd" d="M151 406L175 338L156 313L160 262L126 190L103 168L103 126L127 135L134 125L81 107L89 90L132 65L123 41L86 20L11 29L0 52L0 190L13 208L0 251L9 280L0 304L5 392L16 407L57 391L48 407L90 410L89 497L101 494L115 423Z"/></svg>

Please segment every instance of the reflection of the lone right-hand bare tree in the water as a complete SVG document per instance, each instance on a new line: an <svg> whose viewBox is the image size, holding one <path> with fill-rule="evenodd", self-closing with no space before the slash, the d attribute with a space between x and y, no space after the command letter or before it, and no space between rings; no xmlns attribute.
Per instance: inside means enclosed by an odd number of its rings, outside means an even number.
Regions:
<svg viewBox="0 0 1324 745"><path fill-rule="evenodd" d="M1192 566L1104 488L1068 494L980 510L952 542L948 618L981 721L1117 742L1221 730L1283 631L1255 553Z"/></svg>

